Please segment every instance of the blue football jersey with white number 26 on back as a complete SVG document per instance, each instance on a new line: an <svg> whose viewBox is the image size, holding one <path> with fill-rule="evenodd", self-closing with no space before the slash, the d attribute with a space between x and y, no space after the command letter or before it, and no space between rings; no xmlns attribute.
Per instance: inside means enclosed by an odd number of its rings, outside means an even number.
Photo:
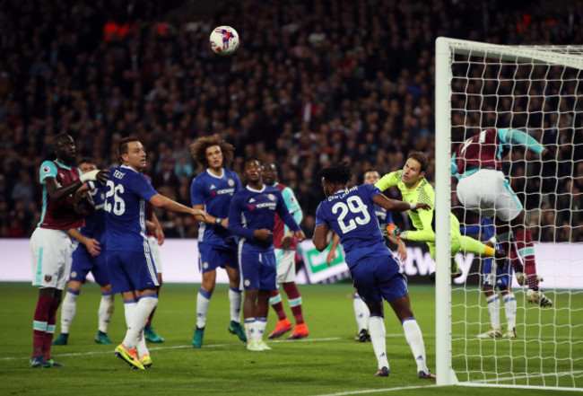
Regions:
<svg viewBox="0 0 583 396"><path fill-rule="evenodd" d="M142 173L126 165L110 169L104 203L108 251L144 251L146 201L156 194Z"/></svg>

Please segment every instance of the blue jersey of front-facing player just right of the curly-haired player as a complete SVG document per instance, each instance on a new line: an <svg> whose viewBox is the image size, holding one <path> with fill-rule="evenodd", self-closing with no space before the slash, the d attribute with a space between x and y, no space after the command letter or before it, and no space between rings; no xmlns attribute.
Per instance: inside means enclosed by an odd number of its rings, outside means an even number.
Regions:
<svg viewBox="0 0 583 396"><path fill-rule="evenodd" d="M274 232L275 213L277 213L293 231L300 231L288 208L285 206L282 193L273 186L265 186L261 190L240 189L231 200L229 208L229 229L232 233L245 238L249 245L257 251L274 249L273 238L260 241L255 238L255 230L266 228Z"/></svg>

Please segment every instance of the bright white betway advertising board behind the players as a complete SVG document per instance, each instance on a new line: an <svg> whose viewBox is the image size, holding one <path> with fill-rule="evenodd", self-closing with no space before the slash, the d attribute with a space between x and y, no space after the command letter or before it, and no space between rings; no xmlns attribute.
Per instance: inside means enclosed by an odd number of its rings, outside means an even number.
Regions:
<svg viewBox="0 0 583 396"><path fill-rule="evenodd" d="M196 241L167 239L160 252L165 283L201 283ZM301 242L299 256L303 265L296 282L331 283L349 278L342 248L338 248L336 259L329 267L327 254L327 250L317 251L309 240ZM544 277L544 289L583 289L583 244L535 243L535 254L538 275ZM466 256L458 253L456 260L464 276L455 279L454 284L479 285L480 260L469 253ZM426 245L407 243L407 259L401 262L401 269L409 284L430 284L429 274L435 270L435 263ZM0 239L0 282L30 282L31 278L30 240ZM89 280L92 281L91 275ZM217 271L217 282L229 282L222 269ZM516 280L514 286L518 287Z"/></svg>

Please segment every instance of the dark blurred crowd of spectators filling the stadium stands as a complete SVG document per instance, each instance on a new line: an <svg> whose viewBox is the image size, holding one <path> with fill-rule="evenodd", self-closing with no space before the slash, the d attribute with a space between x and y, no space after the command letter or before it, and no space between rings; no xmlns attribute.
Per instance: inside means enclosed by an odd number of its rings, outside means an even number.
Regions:
<svg viewBox="0 0 583 396"><path fill-rule="evenodd" d="M154 188L187 206L197 172L188 147L219 134L236 147L239 174L249 154L277 164L311 233L322 167L346 160L356 174L369 167L383 174L402 167L411 150L434 157L437 37L583 42L583 12L567 2L552 9L501 0L220 3L204 21L188 13L163 18L135 0L0 4L0 237L34 230L39 164L54 159L50 147L60 132L100 167L118 164L121 137L137 136ZM219 24L239 31L234 57L208 48ZM526 199L535 240L583 242L580 111L572 110L567 125L566 116L562 124L549 119L539 136L559 160L559 174L572 177L526 178L528 158L512 154L513 189L535 197ZM524 129L518 120L500 117L497 127ZM527 175L539 174L531 169ZM427 177L434 180L433 163ZM196 235L190 217L160 215L167 237Z"/></svg>

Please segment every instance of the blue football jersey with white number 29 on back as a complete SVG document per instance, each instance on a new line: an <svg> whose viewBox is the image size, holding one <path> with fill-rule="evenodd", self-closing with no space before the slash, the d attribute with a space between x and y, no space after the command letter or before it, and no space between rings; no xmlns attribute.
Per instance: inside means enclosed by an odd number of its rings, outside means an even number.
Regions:
<svg viewBox="0 0 583 396"><path fill-rule="evenodd" d="M372 184L341 189L320 202L316 211L316 226L328 225L340 237L350 268L361 259L392 255L372 202L378 194L380 190Z"/></svg>

